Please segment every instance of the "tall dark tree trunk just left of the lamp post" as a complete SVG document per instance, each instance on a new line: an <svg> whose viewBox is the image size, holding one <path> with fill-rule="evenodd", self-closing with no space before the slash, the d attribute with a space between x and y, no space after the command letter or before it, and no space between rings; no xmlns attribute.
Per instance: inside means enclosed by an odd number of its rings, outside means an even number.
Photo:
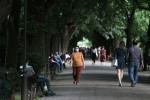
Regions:
<svg viewBox="0 0 150 100"><path fill-rule="evenodd" d="M9 18L9 32L6 49L6 68L17 67L18 33L20 20L21 1L13 0Z"/></svg>

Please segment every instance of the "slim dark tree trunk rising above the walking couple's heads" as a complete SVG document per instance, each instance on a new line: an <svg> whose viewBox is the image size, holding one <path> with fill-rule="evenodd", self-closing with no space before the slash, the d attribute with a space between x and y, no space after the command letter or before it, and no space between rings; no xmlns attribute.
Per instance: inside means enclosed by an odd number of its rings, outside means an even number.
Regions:
<svg viewBox="0 0 150 100"><path fill-rule="evenodd" d="M132 46L132 26L134 21L134 14L135 14L135 9L131 11L130 17L128 17L127 28L125 29L127 35L127 48Z"/></svg>

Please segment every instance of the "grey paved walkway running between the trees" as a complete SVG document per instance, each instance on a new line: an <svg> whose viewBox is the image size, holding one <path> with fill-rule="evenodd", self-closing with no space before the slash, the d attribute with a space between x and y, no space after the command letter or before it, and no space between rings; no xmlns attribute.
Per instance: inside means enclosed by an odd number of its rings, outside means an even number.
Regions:
<svg viewBox="0 0 150 100"><path fill-rule="evenodd" d="M73 84L72 69L67 65L51 88L56 96L43 97L41 100L150 100L150 74L139 73L139 83L130 87L127 69L123 87L118 86L116 69L106 62L91 65L87 60L86 69L82 71L80 85Z"/></svg>

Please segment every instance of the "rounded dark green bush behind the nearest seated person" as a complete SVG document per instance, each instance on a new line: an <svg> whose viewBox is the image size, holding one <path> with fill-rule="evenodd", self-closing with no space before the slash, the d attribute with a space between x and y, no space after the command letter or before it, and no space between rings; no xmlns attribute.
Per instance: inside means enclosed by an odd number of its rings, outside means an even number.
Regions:
<svg viewBox="0 0 150 100"><path fill-rule="evenodd" d="M39 53L28 53L27 59L29 60L29 65L31 65L36 73L39 73L40 70L45 67L45 59Z"/></svg>

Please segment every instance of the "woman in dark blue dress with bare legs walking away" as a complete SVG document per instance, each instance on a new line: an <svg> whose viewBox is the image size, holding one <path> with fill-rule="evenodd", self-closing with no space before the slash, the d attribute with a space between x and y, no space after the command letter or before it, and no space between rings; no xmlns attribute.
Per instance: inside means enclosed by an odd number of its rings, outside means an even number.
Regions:
<svg viewBox="0 0 150 100"><path fill-rule="evenodd" d="M125 47L124 41L121 41L119 47L116 48L114 58L118 59L118 66L116 67L116 69L119 80L119 86L122 86L123 69L126 67L128 60L127 48Z"/></svg>

